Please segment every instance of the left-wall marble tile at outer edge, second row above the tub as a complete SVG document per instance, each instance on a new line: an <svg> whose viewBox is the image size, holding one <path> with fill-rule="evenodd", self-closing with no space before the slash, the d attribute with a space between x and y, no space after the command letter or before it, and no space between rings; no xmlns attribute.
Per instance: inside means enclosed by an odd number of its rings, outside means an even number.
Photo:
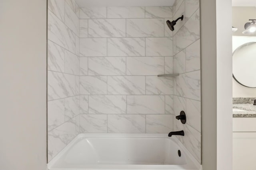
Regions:
<svg viewBox="0 0 256 170"><path fill-rule="evenodd" d="M65 122L64 99L48 101L48 131L58 127Z"/></svg>

